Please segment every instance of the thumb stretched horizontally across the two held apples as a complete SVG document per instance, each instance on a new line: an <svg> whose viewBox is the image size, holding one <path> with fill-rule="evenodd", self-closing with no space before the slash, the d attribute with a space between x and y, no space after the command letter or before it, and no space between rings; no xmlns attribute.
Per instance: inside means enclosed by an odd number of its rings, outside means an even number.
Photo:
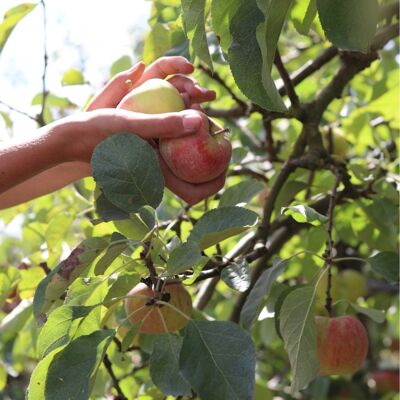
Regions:
<svg viewBox="0 0 400 400"><path fill-rule="evenodd" d="M127 131L143 139L172 138L191 135L199 129L208 129L208 119L195 110L179 113L143 114L122 109L93 111L95 124L108 133Z"/></svg>

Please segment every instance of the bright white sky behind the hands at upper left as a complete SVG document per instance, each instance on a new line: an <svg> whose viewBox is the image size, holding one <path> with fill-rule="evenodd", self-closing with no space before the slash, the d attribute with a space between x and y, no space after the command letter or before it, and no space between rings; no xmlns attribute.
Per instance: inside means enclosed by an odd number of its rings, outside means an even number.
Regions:
<svg viewBox="0 0 400 400"><path fill-rule="evenodd" d="M22 0L1 0L4 13ZM84 68L84 76L99 88L113 61L133 57L133 49L148 29L151 3L144 0L46 0L48 87L83 105L89 88L62 87L60 77L71 67ZM0 54L0 100L30 111L34 94L41 91L43 24L40 4L12 32ZM3 108L0 107L0 110ZM13 114L14 119L18 116ZM15 123L17 135L34 127L26 118ZM0 119L0 139L4 133ZM4 137L4 136L3 136Z"/></svg>

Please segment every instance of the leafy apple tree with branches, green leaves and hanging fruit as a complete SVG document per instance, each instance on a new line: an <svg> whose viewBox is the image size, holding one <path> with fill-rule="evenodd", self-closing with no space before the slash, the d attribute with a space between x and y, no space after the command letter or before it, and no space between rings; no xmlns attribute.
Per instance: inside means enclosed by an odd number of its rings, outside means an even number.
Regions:
<svg viewBox="0 0 400 400"><path fill-rule="evenodd" d="M41 6L4 16L0 50ZM1 211L22 231L0 244L2 398L394 398L398 18L394 0L152 0L140 58L184 56L216 91L226 184L188 205L120 132L93 178ZM38 126L78 111L32 95Z"/></svg>

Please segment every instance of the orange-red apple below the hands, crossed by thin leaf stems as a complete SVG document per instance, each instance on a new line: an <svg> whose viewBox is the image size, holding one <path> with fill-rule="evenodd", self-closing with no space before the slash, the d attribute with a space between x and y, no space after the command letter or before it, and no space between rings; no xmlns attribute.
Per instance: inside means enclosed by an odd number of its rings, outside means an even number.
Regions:
<svg viewBox="0 0 400 400"><path fill-rule="evenodd" d="M184 314L190 316L192 312L192 298L188 291L179 282L171 282L165 286L163 293L169 293L169 303L182 311ZM138 295L138 296L137 296ZM167 326L167 332L175 332L184 328L188 320L175 311L173 308L163 304L157 304L155 293L144 283L136 285L129 293L125 300L125 312L128 316L135 310L144 306L141 311L136 312L129 317L129 321L135 324L142 321L139 333L146 334L162 334L166 333L164 324L161 320L159 311L164 317ZM145 297L144 297L145 296ZM147 305L147 303L154 301L154 304Z"/></svg>

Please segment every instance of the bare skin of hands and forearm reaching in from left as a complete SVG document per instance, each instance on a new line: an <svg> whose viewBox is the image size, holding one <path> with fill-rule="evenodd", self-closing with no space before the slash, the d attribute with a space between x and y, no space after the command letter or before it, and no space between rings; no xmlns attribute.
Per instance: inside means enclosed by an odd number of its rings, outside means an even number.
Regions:
<svg viewBox="0 0 400 400"><path fill-rule="evenodd" d="M0 209L51 193L91 175L93 149L109 135L135 132L144 139L192 134L205 123L199 104L215 93L200 88L189 77L193 65L183 57L164 57L147 68L139 63L115 76L95 96L87 111L63 118L38 129L29 139L8 141L0 147ZM116 105L133 88L151 78L170 79L181 92L187 107L179 113L144 115L116 110ZM193 185L176 178L160 161L166 186L190 204L222 188L224 174L211 182Z"/></svg>

